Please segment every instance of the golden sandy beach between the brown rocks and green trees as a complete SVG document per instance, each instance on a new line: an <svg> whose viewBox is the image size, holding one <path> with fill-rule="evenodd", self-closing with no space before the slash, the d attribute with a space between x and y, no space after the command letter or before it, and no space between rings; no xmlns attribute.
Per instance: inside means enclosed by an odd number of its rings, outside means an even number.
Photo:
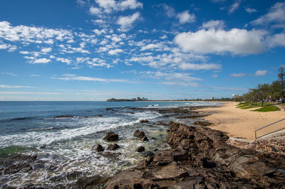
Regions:
<svg viewBox="0 0 285 189"><path fill-rule="evenodd" d="M199 112L212 112L204 119L212 122L211 129L227 132L229 137L242 137L254 140L254 131L285 118L285 112L253 112L254 109L237 108L238 102L224 102L222 107L199 109ZM281 129L284 121L257 132L257 136L266 134L276 129Z"/></svg>

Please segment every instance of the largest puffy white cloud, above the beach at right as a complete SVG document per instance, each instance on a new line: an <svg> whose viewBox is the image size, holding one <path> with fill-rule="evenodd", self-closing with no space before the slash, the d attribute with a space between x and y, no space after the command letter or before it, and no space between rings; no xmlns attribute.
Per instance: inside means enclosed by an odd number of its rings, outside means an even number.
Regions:
<svg viewBox="0 0 285 189"><path fill-rule="evenodd" d="M197 32L179 33L175 36L175 43L183 51L197 53L232 53L257 54L264 50L265 31L233 28L224 30L199 30Z"/></svg>

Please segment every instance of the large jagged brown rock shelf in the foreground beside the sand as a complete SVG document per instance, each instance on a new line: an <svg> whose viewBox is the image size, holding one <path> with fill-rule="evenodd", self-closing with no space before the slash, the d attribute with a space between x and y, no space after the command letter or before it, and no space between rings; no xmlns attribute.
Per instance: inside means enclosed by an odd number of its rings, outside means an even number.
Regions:
<svg viewBox="0 0 285 189"><path fill-rule="evenodd" d="M226 144L222 131L169 123L171 150L120 171L105 188L284 188L285 156Z"/></svg>

